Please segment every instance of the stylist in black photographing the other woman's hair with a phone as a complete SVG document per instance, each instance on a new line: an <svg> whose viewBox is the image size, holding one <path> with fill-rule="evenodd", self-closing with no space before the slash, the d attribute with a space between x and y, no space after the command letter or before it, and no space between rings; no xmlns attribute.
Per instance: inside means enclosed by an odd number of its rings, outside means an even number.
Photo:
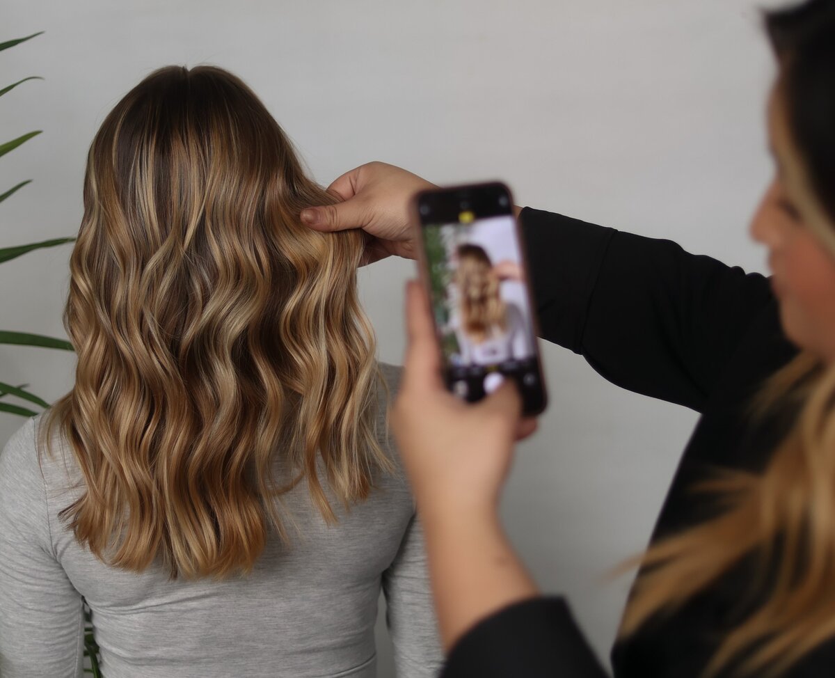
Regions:
<svg viewBox="0 0 835 678"><path fill-rule="evenodd" d="M610 382L701 413L612 653L623 678L835 675L835 3L769 13L767 28L777 170L751 235L771 279L667 240L519 213L544 339ZM362 227L367 261L412 258L406 206L425 187L363 165L331 185L345 202L302 219ZM407 325L392 416L423 517L444 675L604 676L498 519L514 441L535 423L510 382L476 405L444 390L415 283Z"/></svg>

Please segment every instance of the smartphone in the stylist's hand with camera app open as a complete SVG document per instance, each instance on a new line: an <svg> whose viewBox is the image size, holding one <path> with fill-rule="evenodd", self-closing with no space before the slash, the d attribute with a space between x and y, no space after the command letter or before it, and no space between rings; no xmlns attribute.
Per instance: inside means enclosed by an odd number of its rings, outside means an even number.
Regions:
<svg viewBox="0 0 835 678"><path fill-rule="evenodd" d="M533 415L547 396L513 205L500 182L451 186L418 193L412 219L448 389L477 402L513 379Z"/></svg>

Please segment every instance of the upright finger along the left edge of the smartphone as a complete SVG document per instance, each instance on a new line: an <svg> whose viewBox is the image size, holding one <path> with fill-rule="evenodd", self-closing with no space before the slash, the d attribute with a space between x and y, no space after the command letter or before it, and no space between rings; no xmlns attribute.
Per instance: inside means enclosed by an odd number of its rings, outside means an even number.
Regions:
<svg viewBox="0 0 835 678"><path fill-rule="evenodd" d="M421 391L444 390L441 357L426 290L417 281L406 287L407 347L403 387Z"/></svg>

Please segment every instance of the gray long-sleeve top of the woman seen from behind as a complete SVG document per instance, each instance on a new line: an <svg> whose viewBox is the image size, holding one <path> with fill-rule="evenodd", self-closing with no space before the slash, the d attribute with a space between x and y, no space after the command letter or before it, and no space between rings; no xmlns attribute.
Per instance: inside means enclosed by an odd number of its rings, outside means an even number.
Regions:
<svg viewBox="0 0 835 678"><path fill-rule="evenodd" d="M393 395L399 368L382 370ZM170 580L156 565L141 574L109 567L79 546L58 512L78 496L80 473L60 442L67 454L43 454L42 470L37 423L29 419L0 453L3 678L82 675L82 596L105 678L373 678L381 586L397 675L437 675L423 536L402 472L382 476L349 511L334 501L331 527L299 483L285 496L298 526L289 546L269 539L247 576ZM393 442L381 442L401 468Z"/></svg>

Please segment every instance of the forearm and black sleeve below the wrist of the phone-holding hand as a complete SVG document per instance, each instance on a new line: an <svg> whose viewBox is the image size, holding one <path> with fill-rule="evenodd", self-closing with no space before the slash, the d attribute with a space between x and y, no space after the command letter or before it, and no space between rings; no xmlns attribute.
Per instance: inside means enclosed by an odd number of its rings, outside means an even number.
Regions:
<svg viewBox="0 0 835 678"><path fill-rule="evenodd" d="M428 549L447 630L442 678L605 678L564 600L539 596L495 512L435 520Z"/></svg>

